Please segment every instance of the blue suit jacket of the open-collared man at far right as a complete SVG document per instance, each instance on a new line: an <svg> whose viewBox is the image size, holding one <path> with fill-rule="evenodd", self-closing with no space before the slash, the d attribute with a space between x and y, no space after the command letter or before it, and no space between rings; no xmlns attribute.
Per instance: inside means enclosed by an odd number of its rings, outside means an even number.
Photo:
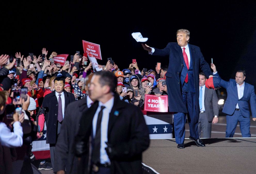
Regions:
<svg viewBox="0 0 256 174"><path fill-rule="evenodd" d="M241 99L238 99L237 86L235 79L230 79L229 82L222 80L219 74L218 76L219 84L227 90L228 97L224 104L222 112L233 115L236 109L236 104L238 103L241 114L244 117L250 117L249 102L251 105L252 117L256 117L256 97L254 92L254 86L249 83L244 82L244 95Z"/></svg>

